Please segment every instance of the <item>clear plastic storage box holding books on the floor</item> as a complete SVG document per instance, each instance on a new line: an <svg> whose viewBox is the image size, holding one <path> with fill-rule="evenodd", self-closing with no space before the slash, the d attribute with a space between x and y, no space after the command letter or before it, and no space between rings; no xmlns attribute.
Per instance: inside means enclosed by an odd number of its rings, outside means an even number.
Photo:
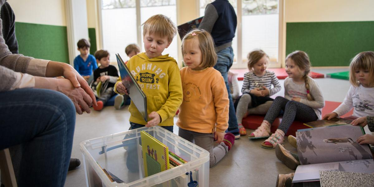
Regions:
<svg viewBox="0 0 374 187"><path fill-rule="evenodd" d="M187 163L144 177L140 131L148 132ZM86 140L80 150L90 187L187 187L190 175L199 187L209 186L209 152L159 126ZM124 183L111 182L103 169Z"/></svg>

